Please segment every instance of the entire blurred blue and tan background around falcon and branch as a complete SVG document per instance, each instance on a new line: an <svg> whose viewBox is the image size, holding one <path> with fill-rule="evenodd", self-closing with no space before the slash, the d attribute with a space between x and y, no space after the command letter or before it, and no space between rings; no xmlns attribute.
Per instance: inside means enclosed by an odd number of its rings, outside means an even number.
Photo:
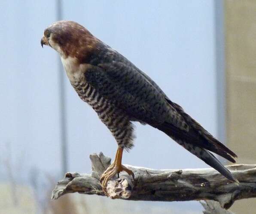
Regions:
<svg viewBox="0 0 256 214"><path fill-rule="evenodd" d="M44 29L57 20L85 26L227 144L238 163L256 163L256 1L1 0L0 18L0 214L202 212L199 202L79 194L50 200L64 172L90 173L90 154L113 158L116 152L115 140L79 99L57 53L40 45ZM136 127L135 147L123 163L208 167L163 133ZM255 204L241 200L231 210L253 213Z"/></svg>

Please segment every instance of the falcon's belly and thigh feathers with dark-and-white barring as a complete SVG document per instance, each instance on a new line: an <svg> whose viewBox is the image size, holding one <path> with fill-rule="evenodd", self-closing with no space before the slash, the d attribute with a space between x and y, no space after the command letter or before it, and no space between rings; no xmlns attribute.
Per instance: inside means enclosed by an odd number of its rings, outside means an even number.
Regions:
<svg viewBox="0 0 256 214"><path fill-rule="evenodd" d="M71 83L79 97L88 103L101 121L115 137L119 147L129 150L133 147L133 125L131 118L120 108L101 96L96 89L86 82Z"/></svg>

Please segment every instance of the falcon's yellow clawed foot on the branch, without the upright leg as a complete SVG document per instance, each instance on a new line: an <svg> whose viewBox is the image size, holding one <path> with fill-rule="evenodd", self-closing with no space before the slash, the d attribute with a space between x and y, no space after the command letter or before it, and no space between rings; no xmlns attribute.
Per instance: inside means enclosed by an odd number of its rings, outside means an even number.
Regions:
<svg viewBox="0 0 256 214"><path fill-rule="evenodd" d="M111 178L113 178L117 173L119 172L122 172L122 171L125 171L128 173L128 175L131 175L133 178L134 178L134 173L128 169L127 167L123 166L123 165L120 165L120 166L117 166L114 163L112 163L108 168L107 170L101 175L101 178L100 178L100 182L101 182L101 187L102 187L102 190L103 192L107 194L107 181L109 181Z"/></svg>

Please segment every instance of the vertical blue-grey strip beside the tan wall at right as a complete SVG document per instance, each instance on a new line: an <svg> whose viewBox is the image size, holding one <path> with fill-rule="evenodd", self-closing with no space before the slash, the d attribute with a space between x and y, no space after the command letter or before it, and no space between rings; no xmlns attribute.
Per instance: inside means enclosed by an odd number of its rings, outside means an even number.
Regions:
<svg viewBox="0 0 256 214"><path fill-rule="evenodd" d="M225 35L224 2L215 0L215 56L216 56L216 99L218 139L226 143L226 76L225 76ZM224 159L221 158L223 161Z"/></svg>

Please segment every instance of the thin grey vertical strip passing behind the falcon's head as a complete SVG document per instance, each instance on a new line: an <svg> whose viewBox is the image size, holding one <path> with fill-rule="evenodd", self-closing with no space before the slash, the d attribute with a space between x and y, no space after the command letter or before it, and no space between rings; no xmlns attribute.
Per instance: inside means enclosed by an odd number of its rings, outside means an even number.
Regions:
<svg viewBox="0 0 256 214"><path fill-rule="evenodd" d="M57 20L62 20L62 0L57 0ZM67 125L66 125L66 102L65 102L65 86L64 86L64 71L61 60L58 59L58 73L59 73L59 92L60 92L60 135L61 135L61 163L62 175L67 172L68 158L67 158Z"/></svg>

